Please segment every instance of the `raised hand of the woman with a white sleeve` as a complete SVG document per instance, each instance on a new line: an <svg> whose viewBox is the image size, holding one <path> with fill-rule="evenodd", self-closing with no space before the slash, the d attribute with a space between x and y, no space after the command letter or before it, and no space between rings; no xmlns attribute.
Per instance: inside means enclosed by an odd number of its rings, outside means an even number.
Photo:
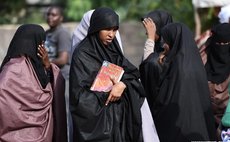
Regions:
<svg viewBox="0 0 230 142"><path fill-rule="evenodd" d="M156 38L156 25L151 18L145 18L142 21L142 24L145 27L147 37L155 41Z"/></svg>

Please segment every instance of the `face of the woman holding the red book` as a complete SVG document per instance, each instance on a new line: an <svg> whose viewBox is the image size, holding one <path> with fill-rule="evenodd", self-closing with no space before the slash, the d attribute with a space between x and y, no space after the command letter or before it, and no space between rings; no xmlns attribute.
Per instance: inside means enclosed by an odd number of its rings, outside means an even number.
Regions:
<svg viewBox="0 0 230 142"><path fill-rule="evenodd" d="M112 28L101 30L99 32L99 37L100 37L102 43L104 45L109 45L110 43L112 43L112 41L116 35L117 30L118 30L117 27L112 27Z"/></svg>

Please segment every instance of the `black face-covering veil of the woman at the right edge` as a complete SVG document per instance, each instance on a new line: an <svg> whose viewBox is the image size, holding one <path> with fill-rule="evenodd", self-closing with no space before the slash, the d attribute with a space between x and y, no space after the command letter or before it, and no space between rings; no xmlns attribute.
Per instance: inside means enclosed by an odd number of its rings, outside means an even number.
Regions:
<svg viewBox="0 0 230 142"><path fill-rule="evenodd" d="M208 80L219 84L230 74L230 24L219 24L211 31L205 68Z"/></svg>

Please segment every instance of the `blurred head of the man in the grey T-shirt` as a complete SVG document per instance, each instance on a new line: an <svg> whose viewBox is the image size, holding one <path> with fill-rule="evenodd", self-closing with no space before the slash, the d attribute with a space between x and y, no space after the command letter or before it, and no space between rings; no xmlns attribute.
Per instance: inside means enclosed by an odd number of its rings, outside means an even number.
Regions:
<svg viewBox="0 0 230 142"><path fill-rule="evenodd" d="M46 21L51 28L58 26L63 20L63 16L58 8L49 8L46 14Z"/></svg>

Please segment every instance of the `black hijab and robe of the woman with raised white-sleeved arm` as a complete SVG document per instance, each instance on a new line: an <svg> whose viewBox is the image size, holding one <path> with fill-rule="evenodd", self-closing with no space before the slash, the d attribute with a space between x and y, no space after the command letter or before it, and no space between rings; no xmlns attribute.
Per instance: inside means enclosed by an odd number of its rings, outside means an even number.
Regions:
<svg viewBox="0 0 230 142"><path fill-rule="evenodd" d="M151 112L153 112L153 102L159 90L159 79L162 72L162 67L158 64L158 58L162 48L162 38L160 30L167 24L172 23L172 16L166 11L154 10L149 12L146 16L150 17L156 24L156 34L159 39L155 41L154 52L151 53L139 66L141 82L145 88L146 97Z"/></svg>

